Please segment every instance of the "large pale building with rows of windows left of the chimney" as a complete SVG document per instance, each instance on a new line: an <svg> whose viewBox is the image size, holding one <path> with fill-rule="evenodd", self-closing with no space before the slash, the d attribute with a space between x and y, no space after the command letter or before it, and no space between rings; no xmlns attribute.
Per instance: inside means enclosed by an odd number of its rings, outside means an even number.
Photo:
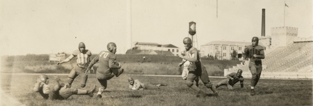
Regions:
<svg viewBox="0 0 313 106"><path fill-rule="evenodd" d="M200 57L211 55L219 60L231 60L233 51L236 51L237 57L240 58L248 45L251 45L251 42L212 41L200 46Z"/></svg>

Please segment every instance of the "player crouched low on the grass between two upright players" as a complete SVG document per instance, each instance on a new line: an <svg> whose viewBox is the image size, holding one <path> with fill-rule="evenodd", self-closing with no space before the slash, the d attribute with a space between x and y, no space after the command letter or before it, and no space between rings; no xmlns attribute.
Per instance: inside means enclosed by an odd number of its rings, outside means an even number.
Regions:
<svg viewBox="0 0 313 106"><path fill-rule="evenodd" d="M243 88L243 77L241 75L242 70L238 69L237 73L227 75L227 79L218 82L215 87L218 88L220 86L227 86L228 89L232 90L234 85L240 81L240 86Z"/></svg>

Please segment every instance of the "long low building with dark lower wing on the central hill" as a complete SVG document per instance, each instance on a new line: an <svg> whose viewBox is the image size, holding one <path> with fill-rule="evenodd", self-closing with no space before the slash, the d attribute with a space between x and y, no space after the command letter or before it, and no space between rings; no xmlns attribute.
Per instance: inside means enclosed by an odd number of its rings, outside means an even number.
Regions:
<svg viewBox="0 0 313 106"><path fill-rule="evenodd" d="M140 52L138 51L140 50ZM132 50L127 51L126 54L150 54L150 55L174 55L180 54L180 48L172 45L161 45L157 43L140 43L136 42Z"/></svg>

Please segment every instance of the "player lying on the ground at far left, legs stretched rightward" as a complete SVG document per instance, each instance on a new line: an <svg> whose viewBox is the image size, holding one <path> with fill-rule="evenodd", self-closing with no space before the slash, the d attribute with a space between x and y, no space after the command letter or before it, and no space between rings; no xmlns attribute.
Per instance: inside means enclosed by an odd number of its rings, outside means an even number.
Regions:
<svg viewBox="0 0 313 106"><path fill-rule="evenodd" d="M53 88L50 88L50 86L48 85L48 76L45 74L40 75L33 88L34 92L38 92L44 99L63 100L69 98L71 95L74 94L89 95L92 97L96 90L96 85L91 90L67 88L66 84L61 82L58 76L55 76L55 80L57 82L57 85L55 85Z"/></svg>

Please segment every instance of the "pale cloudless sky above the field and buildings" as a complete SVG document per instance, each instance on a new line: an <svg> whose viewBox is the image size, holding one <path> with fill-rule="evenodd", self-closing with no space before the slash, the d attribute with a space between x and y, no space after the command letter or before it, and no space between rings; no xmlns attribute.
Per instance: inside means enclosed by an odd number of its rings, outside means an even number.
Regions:
<svg viewBox="0 0 313 106"><path fill-rule="evenodd" d="M286 7L285 4L288 6ZM98 54L109 42L125 54L131 42L172 44L183 49L189 22L195 47L212 41L250 42L272 27L297 27L313 36L311 0L2 0L0 55L72 53L84 42Z"/></svg>

